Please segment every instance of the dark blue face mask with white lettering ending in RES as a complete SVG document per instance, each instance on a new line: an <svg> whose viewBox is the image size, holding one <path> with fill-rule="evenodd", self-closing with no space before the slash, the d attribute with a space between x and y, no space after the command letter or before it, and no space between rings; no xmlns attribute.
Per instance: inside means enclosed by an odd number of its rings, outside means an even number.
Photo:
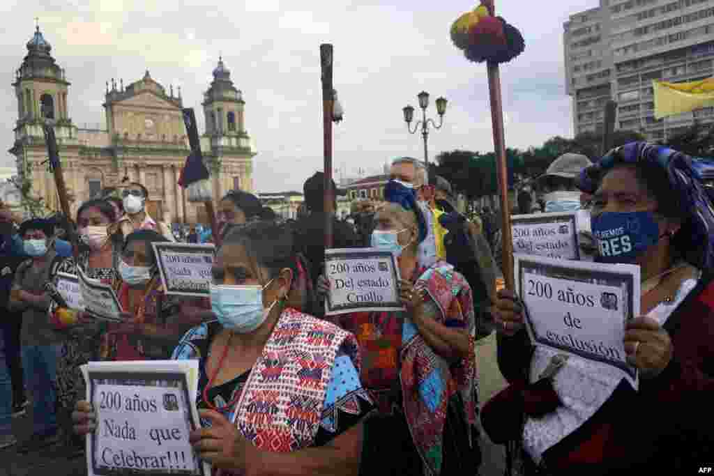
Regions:
<svg viewBox="0 0 714 476"><path fill-rule="evenodd" d="M598 244L598 263L635 263L661 238L651 211L604 212L590 218L590 223Z"/></svg>

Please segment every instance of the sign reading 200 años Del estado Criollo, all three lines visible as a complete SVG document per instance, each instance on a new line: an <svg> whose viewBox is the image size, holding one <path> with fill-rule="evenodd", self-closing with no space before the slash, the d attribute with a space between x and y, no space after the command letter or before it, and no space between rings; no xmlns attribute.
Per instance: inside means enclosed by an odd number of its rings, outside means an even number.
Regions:
<svg viewBox="0 0 714 476"><path fill-rule="evenodd" d="M325 275L330 281L326 315L404 310L399 298L399 270L391 251L325 250Z"/></svg>

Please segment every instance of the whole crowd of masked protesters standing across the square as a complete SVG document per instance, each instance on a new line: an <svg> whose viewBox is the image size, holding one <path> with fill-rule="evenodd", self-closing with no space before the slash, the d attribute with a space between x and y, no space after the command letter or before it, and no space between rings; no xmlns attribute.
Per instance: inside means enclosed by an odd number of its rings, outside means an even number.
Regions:
<svg viewBox="0 0 714 476"><path fill-rule="evenodd" d="M523 474L677 474L714 454L705 407L714 208L683 154L633 143L595 164L583 158L566 156L538 179L539 211L588 209L593 231L632 213L653 224L618 260L640 265L644 281L643 316L625 333L643 379L637 393L607 366L576 359L557 377L531 378L557 355L534 350L520 300L496 291L498 218L488 208L467 218L448 181L401 157L385 201L361 203L346 220L324 209L322 173L305 182L297 220L236 190L216 203L216 230L156 221L139 183L121 200L82 203L72 220L21 221L0 208L0 448L82 455L97 420L79 367L172 358L198 360L202 427L191 443L223 475L476 475L480 420ZM522 213L540 206L531 193L517 201ZM325 315L330 219L335 248L396 256L404 310ZM152 243L214 235L210 298L167 295ZM116 290L121 323L66 308L54 278L80 271ZM476 343L494 330L510 385L481 412ZM28 405L33 432L17 442L11 418Z"/></svg>

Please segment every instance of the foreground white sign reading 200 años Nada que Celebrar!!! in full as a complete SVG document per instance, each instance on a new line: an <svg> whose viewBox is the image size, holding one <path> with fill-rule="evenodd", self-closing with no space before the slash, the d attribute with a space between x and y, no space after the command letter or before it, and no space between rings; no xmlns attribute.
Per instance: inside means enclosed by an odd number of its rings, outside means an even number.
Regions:
<svg viewBox="0 0 714 476"><path fill-rule="evenodd" d="M136 363L114 364L83 369L97 418L87 436L89 475L210 475L188 441L200 423L186 366L137 372Z"/></svg>

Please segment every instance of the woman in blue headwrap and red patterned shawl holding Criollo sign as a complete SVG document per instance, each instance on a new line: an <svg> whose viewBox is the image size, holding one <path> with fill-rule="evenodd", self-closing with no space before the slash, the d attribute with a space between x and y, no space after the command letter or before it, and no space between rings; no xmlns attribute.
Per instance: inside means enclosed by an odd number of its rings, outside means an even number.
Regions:
<svg viewBox="0 0 714 476"><path fill-rule="evenodd" d="M436 259L435 246L424 246L428 236L434 239L427 233L426 205L394 181L385 195L398 203L377 212L371 245L397 256L405 310L336 316L357 336L362 381L378 405L378 415L365 424L361 474L473 474L478 446L471 446L470 434L476 419L471 288L453 266Z"/></svg>

